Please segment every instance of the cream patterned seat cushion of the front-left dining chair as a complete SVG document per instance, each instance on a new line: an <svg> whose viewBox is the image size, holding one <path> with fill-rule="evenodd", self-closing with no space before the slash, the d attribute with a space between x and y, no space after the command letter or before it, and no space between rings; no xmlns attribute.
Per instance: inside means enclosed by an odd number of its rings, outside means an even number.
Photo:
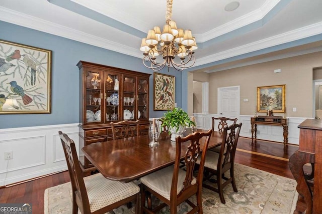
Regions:
<svg viewBox="0 0 322 214"><path fill-rule="evenodd" d="M120 201L140 191L134 182L121 183L109 180L101 173L94 174L84 179L87 189L91 212L112 203Z"/></svg>

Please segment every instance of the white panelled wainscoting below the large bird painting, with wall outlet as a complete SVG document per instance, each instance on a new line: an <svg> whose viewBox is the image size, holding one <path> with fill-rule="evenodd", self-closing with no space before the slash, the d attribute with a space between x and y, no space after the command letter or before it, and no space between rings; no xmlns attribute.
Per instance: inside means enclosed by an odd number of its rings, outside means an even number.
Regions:
<svg viewBox="0 0 322 214"><path fill-rule="evenodd" d="M59 130L74 140L78 152L78 123L0 129L0 186L66 170ZM13 159L5 160L7 151Z"/></svg>

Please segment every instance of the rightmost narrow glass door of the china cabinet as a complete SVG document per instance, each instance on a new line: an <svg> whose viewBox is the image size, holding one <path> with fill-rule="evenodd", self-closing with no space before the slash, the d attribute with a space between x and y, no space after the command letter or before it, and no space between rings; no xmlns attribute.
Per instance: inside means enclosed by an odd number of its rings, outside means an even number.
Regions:
<svg viewBox="0 0 322 214"><path fill-rule="evenodd" d="M143 77L138 77L138 112L140 117L138 119L148 119L148 79Z"/></svg>

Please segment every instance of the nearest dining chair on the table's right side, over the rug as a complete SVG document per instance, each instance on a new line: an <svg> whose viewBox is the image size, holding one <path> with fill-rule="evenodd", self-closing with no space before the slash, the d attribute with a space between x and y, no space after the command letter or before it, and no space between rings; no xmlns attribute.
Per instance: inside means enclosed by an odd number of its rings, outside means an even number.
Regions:
<svg viewBox="0 0 322 214"><path fill-rule="evenodd" d="M141 213L155 213L167 205L170 206L171 214L177 213L177 206L184 201L192 207L188 213L202 213L201 190L206 152L200 153L200 141L204 140L203 150L206 151L211 133L212 130L209 129L208 132L195 132L183 138L177 137L175 164L141 177ZM185 151L185 170L180 168L182 149ZM200 156L199 171L194 176L195 163ZM151 194L163 203L152 208ZM189 200L192 195L196 195L197 204Z"/></svg>

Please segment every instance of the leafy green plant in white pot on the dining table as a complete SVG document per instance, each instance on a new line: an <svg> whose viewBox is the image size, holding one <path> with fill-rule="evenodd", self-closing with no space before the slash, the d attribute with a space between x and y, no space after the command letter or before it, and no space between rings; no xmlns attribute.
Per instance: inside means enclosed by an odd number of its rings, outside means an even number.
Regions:
<svg viewBox="0 0 322 214"><path fill-rule="evenodd" d="M196 123L190 120L188 113L182 108L167 111L160 120L162 121L162 126L169 128L172 141L176 141L176 137L182 135L186 127L196 126Z"/></svg>

